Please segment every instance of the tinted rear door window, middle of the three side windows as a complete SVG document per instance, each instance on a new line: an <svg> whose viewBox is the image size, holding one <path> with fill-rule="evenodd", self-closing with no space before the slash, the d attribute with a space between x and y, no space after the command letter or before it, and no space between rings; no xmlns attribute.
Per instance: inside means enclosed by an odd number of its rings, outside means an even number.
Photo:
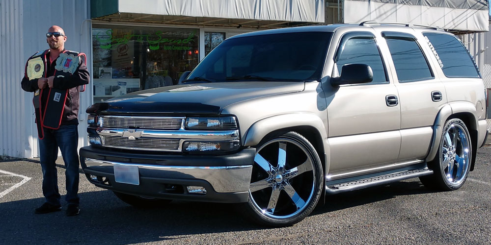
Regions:
<svg viewBox="0 0 491 245"><path fill-rule="evenodd" d="M433 78L430 67L416 41L407 37L386 37L400 82Z"/></svg>

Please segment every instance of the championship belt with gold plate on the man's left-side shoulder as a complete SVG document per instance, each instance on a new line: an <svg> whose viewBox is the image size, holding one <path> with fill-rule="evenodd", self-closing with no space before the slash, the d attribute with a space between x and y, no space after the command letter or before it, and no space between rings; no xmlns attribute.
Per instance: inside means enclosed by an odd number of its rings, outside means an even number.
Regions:
<svg viewBox="0 0 491 245"><path fill-rule="evenodd" d="M39 52L36 52L27 60L26 75L29 80L46 76L46 61L43 59L45 57L44 54L46 52L47 50L37 56L36 54ZM34 111L36 114L37 135L39 139L43 139L44 132L43 132L43 126L41 120L41 90L40 89L34 92L32 103L34 105Z"/></svg>

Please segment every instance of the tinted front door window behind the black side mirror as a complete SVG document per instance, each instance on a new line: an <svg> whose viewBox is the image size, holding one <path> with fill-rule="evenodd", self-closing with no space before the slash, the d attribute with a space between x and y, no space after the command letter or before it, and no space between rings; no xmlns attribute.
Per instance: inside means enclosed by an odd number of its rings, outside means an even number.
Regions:
<svg viewBox="0 0 491 245"><path fill-rule="evenodd" d="M344 43L341 52L337 55L336 66L338 73L347 64L366 64L372 68L373 81L385 82L385 70L382 58L373 37L354 37Z"/></svg>

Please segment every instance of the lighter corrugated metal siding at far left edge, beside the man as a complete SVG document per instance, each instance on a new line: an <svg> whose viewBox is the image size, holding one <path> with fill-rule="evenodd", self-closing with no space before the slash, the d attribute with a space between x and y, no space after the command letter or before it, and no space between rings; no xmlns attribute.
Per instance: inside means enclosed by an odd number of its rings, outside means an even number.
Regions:
<svg viewBox="0 0 491 245"><path fill-rule="evenodd" d="M31 154L32 135L26 121L33 110L24 106L30 96L20 83L25 62L22 5L22 0L0 1L0 155L15 157Z"/></svg>

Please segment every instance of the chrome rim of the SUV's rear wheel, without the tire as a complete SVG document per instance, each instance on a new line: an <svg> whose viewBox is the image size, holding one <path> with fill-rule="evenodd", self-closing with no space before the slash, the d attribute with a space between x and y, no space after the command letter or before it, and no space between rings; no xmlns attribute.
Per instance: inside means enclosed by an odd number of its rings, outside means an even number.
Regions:
<svg viewBox="0 0 491 245"><path fill-rule="evenodd" d="M451 124L443 133L441 169L449 184L458 186L467 176L470 164L470 142L460 123Z"/></svg>

